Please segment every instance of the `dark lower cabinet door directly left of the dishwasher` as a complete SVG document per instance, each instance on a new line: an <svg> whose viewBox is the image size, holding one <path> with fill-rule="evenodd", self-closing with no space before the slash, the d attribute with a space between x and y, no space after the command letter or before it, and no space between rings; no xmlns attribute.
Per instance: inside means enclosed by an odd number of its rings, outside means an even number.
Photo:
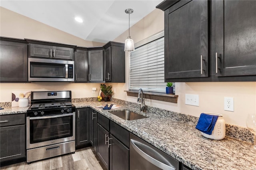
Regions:
<svg viewBox="0 0 256 170"><path fill-rule="evenodd" d="M110 170L129 170L129 149L110 135Z"/></svg>

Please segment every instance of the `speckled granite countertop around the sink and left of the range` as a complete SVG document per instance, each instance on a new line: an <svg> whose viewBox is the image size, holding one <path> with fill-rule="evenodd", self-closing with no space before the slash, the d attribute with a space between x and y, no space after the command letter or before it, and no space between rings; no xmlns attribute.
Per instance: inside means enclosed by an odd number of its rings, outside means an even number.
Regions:
<svg viewBox="0 0 256 170"><path fill-rule="evenodd" d="M91 107L118 125L144 139L156 148L169 154L194 170L256 170L256 150L247 143L231 137L216 141L207 139L193 125L181 123L172 116L146 114L148 118L126 121L109 111L129 109L140 112L134 107L122 106L117 109L103 110L99 105L117 104L115 102L72 102L76 108ZM28 107L13 107L0 110L0 115L25 113Z"/></svg>

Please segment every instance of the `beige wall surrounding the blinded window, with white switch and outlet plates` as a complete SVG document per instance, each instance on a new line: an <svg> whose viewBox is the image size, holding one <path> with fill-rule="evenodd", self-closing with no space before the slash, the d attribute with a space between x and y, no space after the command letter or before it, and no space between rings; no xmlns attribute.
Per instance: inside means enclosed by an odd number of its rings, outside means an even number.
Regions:
<svg viewBox="0 0 256 170"><path fill-rule="evenodd" d="M164 12L154 10L130 28L134 43L141 41L164 29ZM124 42L128 31L114 41ZM136 102L135 97L126 96L124 90L129 87L129 54L126 53L126 84L114 84L119 90L116 98ZM198 116L202 112L214 112L224 115L227 123L246 127L248 113L256 113L256 82L179 82L176 83L178 104L146 99L146 105ZM199 107L185 105L185 94L198 94ZM234 112L224 111L224 97L234 98Z"/></svg>

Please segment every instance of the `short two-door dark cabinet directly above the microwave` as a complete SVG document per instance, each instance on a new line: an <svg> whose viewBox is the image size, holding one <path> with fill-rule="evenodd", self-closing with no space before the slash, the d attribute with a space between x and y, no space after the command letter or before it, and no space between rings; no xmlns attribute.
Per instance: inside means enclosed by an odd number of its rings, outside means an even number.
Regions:
<svg viewBox="0 0 256 170"><path fill-rule="evenodd" d="M25 39L28 45L28 57L74 60L74 45Z"/></svg>

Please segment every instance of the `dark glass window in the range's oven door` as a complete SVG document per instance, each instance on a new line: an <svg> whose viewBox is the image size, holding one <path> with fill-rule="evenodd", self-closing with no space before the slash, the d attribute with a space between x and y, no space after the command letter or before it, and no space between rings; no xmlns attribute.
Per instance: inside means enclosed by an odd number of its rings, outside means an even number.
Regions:
<svg viewBox="0 0 256 170"><path fill-rule="evenodd" d="M73 136L73 116L30 120L30 143Z"/></svg>

